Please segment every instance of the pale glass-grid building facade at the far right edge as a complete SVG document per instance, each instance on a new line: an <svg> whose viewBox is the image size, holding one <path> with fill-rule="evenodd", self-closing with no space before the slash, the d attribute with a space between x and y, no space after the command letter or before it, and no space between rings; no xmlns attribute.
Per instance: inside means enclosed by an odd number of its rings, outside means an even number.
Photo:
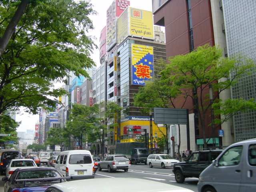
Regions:
<svg viewBox="0 0 256 192"><path fill-rule="evenodd" d="M256 1L222 0L228 56L242 54L256 61ZM231 74L232 76L232 74ZM232 86L233 99L256 100L256 72ZM256 111L238 112L234 118L235 141L255 138Z"/></svg>

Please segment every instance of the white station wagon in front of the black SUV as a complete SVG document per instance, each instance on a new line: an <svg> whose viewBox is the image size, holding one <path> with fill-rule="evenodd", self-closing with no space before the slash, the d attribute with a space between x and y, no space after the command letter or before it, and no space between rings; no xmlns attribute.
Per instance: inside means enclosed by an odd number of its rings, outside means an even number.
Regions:
<svg viewBox="0 0 256 192"><path fill-rule="evenodd" d="M180 162L166 154L151 154L148 156L147 164L150 168L160 166L162 168L173 167L173 164Z"/></svg>

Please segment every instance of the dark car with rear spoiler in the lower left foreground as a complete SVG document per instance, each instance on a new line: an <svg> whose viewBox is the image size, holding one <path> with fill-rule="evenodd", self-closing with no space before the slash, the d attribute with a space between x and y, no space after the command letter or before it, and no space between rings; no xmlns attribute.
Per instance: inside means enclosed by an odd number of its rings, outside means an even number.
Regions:
<svg viewBox="0 0 256 192"><path fill-rule="evenodd" d="M66 181L66 179L70 179L70 177L63 177L53 167L17 168L9 179L2 178L3 181L6 181L4 192L12 192L13 189L16 189L15 191L44 192L48 186Z"/></svg>

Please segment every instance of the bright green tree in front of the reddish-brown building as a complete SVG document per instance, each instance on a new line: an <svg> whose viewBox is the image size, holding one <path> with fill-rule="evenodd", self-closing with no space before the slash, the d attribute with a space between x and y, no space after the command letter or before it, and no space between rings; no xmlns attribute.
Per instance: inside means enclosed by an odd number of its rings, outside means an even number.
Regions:
<svg viewBox="0 0 256 192"><path fill-rule="evenodd" d="M230 88L242 76L246 76L255 70L255 65L251 59L245 57L222 58L222 50L209 46L208 44L198 47L196 50L186 54L169 58L167 65L161 74L174 82L174 85L182 87L178 99L188 98L188 102L193 103L193 108L197 111L199 126L202 128L204 147L207 146L205 130L210 125L205 124L209 119L211 103L209 102L208 87L212 85L215 119L220 114L225 114L225 118L218 121L222 124L234 113L255 110L253 100L232 100L222 101L219 95L224 90ZM230 72L233 76L230 78ZM231 107L233 106L233 107ZM217 122L217 121L216 121ZM214 133L215 134L215 133Z"/></svg>

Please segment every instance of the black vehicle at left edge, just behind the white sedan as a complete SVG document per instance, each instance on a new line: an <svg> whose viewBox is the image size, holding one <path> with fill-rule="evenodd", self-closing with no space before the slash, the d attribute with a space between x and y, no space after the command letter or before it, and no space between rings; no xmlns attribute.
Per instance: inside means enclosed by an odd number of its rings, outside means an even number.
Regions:
<svg viewBox="0 0 256 192"><path fill-rule="evenodd" d="M19 151L4 151L1 156L0 173L4 175L6 166L11 162L12 159L21 159Z"/></svg>

